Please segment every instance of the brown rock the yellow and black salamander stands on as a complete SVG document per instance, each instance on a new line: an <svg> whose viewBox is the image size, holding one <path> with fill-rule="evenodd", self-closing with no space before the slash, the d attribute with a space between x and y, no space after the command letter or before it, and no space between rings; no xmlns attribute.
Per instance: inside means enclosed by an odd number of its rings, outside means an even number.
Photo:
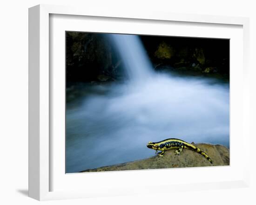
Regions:
<svg viewBox="0 0 256 205"><path fill-rule="evenodd" d="M144 160L122 163L113 166L99 167L82 172L120 171L138 169L159 169L177 167L209 167L229 166L229 149L222 145L195 144L205 151L212 159L211 164L205 157L189 149L183 149L181 154L175 155L174 150L168 150L163 157L154 156ZM154 152L154 150L152 150Z"/></svg>

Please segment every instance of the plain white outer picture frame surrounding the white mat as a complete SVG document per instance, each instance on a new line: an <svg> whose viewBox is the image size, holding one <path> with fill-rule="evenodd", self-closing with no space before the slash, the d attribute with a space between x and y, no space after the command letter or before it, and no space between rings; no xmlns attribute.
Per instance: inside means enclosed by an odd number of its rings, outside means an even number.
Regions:
<svg viewBox="0 0 256 205"><path fill-rule="evenodd" d="M133 19L136 21L143 20L157 20L161 21L175 21L189 23L201 23L201 24L218 24L225 27L225 25L237 25L242 26L243 29L243 89L241 94L243 95L243 103L238 106L242 115L242 137L240 141L243 141L243 146L249 141L249 19L241 17L223 17L223 16L210 16L210 15L194 15L194 14L175 14L175 13L160 13L160 12L132 12L125 10L118 11L102 11L92 8L77 8L70 6L52 6L52 5L38 5L29 8L29 197L37 200L52 200L52 199L74 199L74 198L86 198L97 196L117 196L127 195L133 193L153 193L155 192L154 186L142 185L144 189L132 187L122 187L119 189L118 181L126 176L141 177L145 175L146 171L126 172L126 173L104 173L106 175L90 175L90 178L113 177L116 183L113 183L108 187L108 192L101 192L100 189L92 188L89 190L51 190L51 170L53 167L51 161L51 150L54 148L51 144L50 134L50 113L52 107L50 101L52 97L52 91L50 86L50 15L75 15L75 16L93 16L102 18L125 18ZM132 32L132 31L131 31ZM232 83L232 82L231 82ZM242 102L241 101L241 102ZM232 103L232 101L231 101ZM64 151L64 150L63 150ZM236 151L234 151L236 152ZM244 153L245 161L241 165L243 173L233 180L221 180L215 182L200 182L200 183L186 183L181 181L175 184L175 190L184 191L193 189L218 189L218 188L231 188L231 187L248 187L249 186L249 150L248 147ZM231 164L232 167L232 164ZM193 171L194 170L194 171ZM161 174L168 174L170 170L155 170L161 172ZM196 169L189 169L186 172L195 172ZM228 171L228 170L227 170ZM142 172L142 173L141 173ZM151 172L152 173L152 172ZM64 173L65 174L65 173ZM110 176L111 175L111 176ZM77 178L81 177L77 175ZM104 180L103 177L103 180ZM141 183L141 182L139 182ZM165 192L172 192L174 188L165 186ZM97 191L98 190L98 191Z"/></svg>

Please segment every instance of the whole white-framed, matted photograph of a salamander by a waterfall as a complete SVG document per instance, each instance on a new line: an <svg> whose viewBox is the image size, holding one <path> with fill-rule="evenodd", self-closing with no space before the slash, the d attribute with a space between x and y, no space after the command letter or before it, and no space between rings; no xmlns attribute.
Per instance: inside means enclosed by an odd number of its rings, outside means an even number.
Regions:
<svg viewBox="0 0 256 205"><path fill-rule="evenodd" d="M247 18L30 8L29 196L248 186L248 52Z"/></svg>

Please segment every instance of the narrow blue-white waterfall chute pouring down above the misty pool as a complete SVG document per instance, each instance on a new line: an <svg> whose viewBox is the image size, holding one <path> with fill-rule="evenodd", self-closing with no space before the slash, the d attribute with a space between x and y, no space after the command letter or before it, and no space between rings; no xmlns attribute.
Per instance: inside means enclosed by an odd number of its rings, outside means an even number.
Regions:
<svg viewBox="0 0 256 205"><path fill-rule="evenodd" d="M131 81L143 81L152 75L152 65L136 35L112 34L110 38L121 55L126 73Z"/></svg>

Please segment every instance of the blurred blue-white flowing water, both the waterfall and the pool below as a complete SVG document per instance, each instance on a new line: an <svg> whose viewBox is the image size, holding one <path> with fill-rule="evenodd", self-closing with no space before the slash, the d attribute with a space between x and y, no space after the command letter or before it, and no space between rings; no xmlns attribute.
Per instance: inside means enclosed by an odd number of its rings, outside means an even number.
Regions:
<svg viewBox="0 0 256 205"><path fill-rule="evenodd" d="M148 141L229 147L229 83L156 73L137 36L111 38L130 80L84 84L67 102L66 173L148 158Z"/></svg>

